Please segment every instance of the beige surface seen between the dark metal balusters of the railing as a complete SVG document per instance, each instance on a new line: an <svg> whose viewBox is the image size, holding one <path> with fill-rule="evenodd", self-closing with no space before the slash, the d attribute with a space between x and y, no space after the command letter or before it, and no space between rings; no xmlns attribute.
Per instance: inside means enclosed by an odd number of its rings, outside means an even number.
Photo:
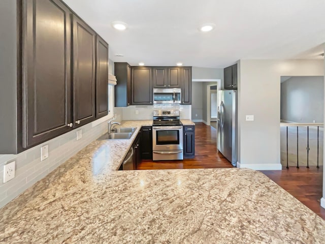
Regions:
<svg viewBox="0 0 325 244"><path fill-rule="evenodd" d="M322 128L319 128L322 129ZM307 166L307 127L299 127L299 166ZM317 165L317 127L309 127L309 166ZM286 166L286 127L281 126L281 164ZM288 127L288 164L297 166L297 127ZM323 165L323 131L319 130L319 165Z"/></svg>

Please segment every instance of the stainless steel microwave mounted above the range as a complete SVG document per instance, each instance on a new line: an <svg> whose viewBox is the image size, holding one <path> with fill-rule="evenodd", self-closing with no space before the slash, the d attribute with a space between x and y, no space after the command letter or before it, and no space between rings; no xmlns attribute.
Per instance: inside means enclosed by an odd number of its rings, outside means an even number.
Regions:
<svg viewBox="0 0 325 244"><path fill-rule="evenodd" d="M181 88L154 88L153 103L181 103Z"/></svg>

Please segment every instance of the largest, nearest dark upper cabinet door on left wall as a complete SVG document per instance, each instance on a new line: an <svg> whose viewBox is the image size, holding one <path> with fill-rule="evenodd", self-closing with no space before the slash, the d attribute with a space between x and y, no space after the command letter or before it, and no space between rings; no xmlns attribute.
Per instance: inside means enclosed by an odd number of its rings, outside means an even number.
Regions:
<svg viewBox="0 0 325 244"><path fill-rule="evenodd" d="M22 7L22 144L27 148L70 129L71 19L57 0L28 0Z"/></svg>

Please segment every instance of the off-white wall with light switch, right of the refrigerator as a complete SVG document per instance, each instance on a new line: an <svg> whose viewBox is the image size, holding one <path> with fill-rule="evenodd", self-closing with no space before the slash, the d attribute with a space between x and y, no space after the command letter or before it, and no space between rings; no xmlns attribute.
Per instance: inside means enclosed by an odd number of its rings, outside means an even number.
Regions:
<svg viewBox="0 0 325 244"><path fill-rule="evenodd" d="M323 60L244 60L239 62L240 167L281 169L280 76L323 76ZM245 121L245 115L254 121Z"/></svg>

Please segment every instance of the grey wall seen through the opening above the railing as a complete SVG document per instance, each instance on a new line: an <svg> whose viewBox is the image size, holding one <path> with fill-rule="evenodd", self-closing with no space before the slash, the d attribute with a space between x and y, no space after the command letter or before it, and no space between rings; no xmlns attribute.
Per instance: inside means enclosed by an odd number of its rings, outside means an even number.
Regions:
<svg viewBox="0 0 325 244"><path fill-rule="evenodd" d="M324 78L293 76L281 83L281 120L323 123Z"/></svg>

